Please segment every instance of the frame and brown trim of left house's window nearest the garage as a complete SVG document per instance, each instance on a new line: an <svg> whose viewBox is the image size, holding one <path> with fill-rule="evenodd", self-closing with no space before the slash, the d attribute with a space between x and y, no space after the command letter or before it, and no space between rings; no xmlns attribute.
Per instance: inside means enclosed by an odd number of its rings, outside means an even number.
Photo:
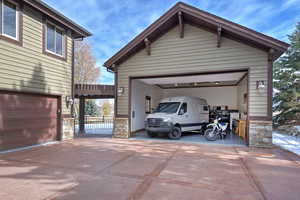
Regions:
<svg viewBox="0 0 300 200"><path fill-rule="evenodd" d="M54 26L54 51L48 50L47 49L47 28L48 24L51 26ZM62 54L56 53L56 30L59 30L62 33ZM43 52L44 54L60 59L60 60L67 60L67 31L66 29L62 28L61 26L55 24L54 22L46 19L44 20L44 25L43 25Z"/></svg>

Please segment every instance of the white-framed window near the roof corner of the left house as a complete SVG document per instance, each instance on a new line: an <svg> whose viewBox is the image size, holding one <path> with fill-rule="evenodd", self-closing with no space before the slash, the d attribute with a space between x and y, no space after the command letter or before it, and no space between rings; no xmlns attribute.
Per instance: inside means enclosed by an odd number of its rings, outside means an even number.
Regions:
<svg viewBox="0 0 300 200"><path fill-rule="evenodd" d="M65 55L65 34L64 31L53 25L52 23L46 23L46 33L45 33L45 47L46 51L60 57Z"/></svg>

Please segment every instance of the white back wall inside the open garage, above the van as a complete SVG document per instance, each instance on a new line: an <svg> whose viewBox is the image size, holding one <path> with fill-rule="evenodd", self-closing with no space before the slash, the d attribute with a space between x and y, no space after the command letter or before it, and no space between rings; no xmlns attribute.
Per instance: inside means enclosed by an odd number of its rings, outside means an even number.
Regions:
<svg viewBox="0 0 300 200"><path fill-rule="evenodd" d="M237 87L201 87L164 89L163 97L194 96L207 100L208 105L227 105L229 109L237 109Z"/></svg>

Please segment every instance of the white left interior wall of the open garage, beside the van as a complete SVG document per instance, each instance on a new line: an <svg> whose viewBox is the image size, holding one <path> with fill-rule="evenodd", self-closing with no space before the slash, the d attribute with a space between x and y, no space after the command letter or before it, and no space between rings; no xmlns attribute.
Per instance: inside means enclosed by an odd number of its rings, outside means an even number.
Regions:
<svg viewBox="0 0 300 200"><path fill-rule="evenodd" d="M132 80L132 111L135 112L135 117L131 120L131 131L136 131L145 128L144 121L145 113L145 97L151 97L151 107L156 108L162 98L162 89L154 85L145 84L139 80Z"/></svg>

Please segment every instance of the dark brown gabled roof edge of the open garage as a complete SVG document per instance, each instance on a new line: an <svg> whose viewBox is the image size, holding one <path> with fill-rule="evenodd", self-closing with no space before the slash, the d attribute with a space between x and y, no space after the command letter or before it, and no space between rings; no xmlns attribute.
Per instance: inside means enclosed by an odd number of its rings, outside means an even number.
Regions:
<svg viewBox="0 0 300 200"><path fill-rule="evenodd" d="M264 46L265 49L274 49L275 59L280 57L289 47L289 44L283 41L264 35L262 33L236 24L229 20L223 19L216 15L210 14L208 12L199 10L185 3L178 2L169 11L162 15L158 20L156 20L148 28L146 28L142 33L140 33L133 40L131 40L126 46L124 46L116 54L109 58L103 66L110 69L114 69L115 67L112 67L112 65L117 64L124 56L127 56L127 54L130 53L130 50L132 48L143 42L146 37L149 37L151 33L154 32L154 28L160 27L160 25L164 24L166 21L171 19L171 17L179 11L187 15L193 15L194 17L201 17L201 19L206 20L209 23L214 23L216 26L221 25L222 28L224 28L225 30L227 29L228 32L243 36L247 40L255 41L256 43L259 43L262 46Z"/></svg>

